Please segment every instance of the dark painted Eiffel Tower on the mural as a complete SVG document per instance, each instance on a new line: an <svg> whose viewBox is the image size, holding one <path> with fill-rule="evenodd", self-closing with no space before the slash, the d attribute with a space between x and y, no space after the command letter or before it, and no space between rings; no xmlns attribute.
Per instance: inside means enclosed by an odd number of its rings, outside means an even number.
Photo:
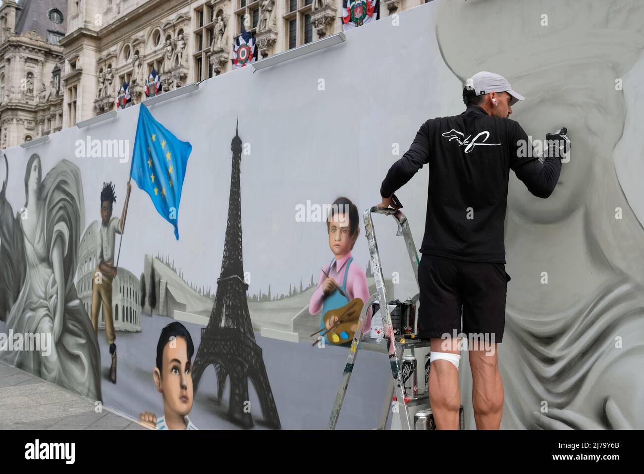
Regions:
<svg viewBox="0 0 644 474"><path fill-rule="evenodd" d="M251 314L246 301L248 284L243 279L240 190L242 140L238 135L238 126L232 139L231 150L231 195L223 246L222 273L217 280L213 311L207 326L202 329L201 343L194 358L194 390L196 391L205 368L213 364L217 372L217 395L220 400L226 377L230 377L229 417L232 421L251 428L252 407L249 407L248 401L248 380L251 379L260 397L264 420L269 426L281 428L261 348L255 342Z"/></svg>

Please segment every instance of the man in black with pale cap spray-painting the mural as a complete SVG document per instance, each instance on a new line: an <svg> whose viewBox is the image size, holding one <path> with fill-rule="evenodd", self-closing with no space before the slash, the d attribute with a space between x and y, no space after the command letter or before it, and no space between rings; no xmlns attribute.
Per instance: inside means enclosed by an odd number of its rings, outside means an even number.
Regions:
<svg viewBox="0 0 644 474"><path fill-rule="evenodd" d="M498 430L503 383L497 346L506 319L504 219L509 171L536 197L553 193L570 146L566 129L546 135L544 156L523 155L532 146L523 128L509 119L524 100L505 77L481 71L463 89L466 110L429 119L395 162L381 186L382 208L424 164L430 168L427 217L418 268L421 339L430 339L430 404L438 429L459 427L461 333L482 335L484 344L468 347L473 377L473 408L478 429ZM490 350L491 349L491 350Z"/></svg>

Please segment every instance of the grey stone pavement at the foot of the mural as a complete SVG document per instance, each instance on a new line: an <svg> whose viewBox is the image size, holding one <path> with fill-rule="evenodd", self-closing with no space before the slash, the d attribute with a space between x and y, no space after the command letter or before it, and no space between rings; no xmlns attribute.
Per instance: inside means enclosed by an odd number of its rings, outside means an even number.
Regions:
<svg viewBox="0 0 644 474"><path fill-rule="evenodd" d="M0 430L147 430L108 408L0 362Z"/></svg>

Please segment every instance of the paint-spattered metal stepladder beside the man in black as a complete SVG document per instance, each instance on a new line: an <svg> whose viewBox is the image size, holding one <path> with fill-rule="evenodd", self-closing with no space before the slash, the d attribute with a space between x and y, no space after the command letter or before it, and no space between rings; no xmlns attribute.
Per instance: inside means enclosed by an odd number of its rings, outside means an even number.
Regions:
<svg viewBox="0 0 644 474"><path fill-rule="evenodd" d="M355 330L354 339L352 340L349 348L345 370L343 371L340 385L337 390L336 399L334 400L334 405L331 411L331 416L328 421L328 430L334 430L336 428L337 420L339 419L340 411L342 409L346 391L351 379L351 374L354 370L355 362L357 360L357 353L361 348L363 348L362 334L367 321L368 310L376 299L379 300L380 304L384 330L383 342L384 344L386 344L386 353L389 359L389 365L392 373L388 388L386 389L383 409L381 411L381 418L379 426L377 428L385 428L388 415L390 411L392 411L392 408L393 411L396 411L399 414L403 430L411 430L413 428L413 421L410 420L410 413L408 411L408 402L410 401L410 398L405 393L405 374L403 374L401 370L401 359L406 349L411 350L413 354L415 348L428 347L429 341L419 341L417 339L410 339L409 337L403 337L401 335L395 334L392 324L392 314L389 308L389 304L387 304L388 299L384 286L383 268L381 265L378 244L375 238L373 221L373 216L375 214L393 216L393 218L395 219L398 226L397 235L403 237L404 239L406 250L412 264L413 275L416 279L416 284L418 285L418 266L420 261L418 259L416 248L413 244L412 232L410 230L406 216L400 210L395 210L392 208L380 208L377 206L369 208L363 214L363 220L365 222L365 234L368 242L372 272L374 273L376 292L370 296L368 301L365 302L363 309L361 310L357 330ZM412 299L413 302L417 302L418 298L419 294L417 293ZM369 337L367 336L366 339L369 339ZM365 340L365 344L367 344L368 342L369 341ZM368 345L371 346L374 344ZM420 364L418 364L418 366L420 366Z"/></svg>

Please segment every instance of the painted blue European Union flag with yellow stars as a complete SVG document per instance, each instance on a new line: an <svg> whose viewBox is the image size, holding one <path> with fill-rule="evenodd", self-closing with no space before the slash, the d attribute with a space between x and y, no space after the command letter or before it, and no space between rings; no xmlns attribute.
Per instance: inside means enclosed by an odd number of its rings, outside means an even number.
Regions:
<svg viewBox="0 0 644 474"><path fill-rule="evenodd" d="M149 194L158 213L175 226L177 240L181 189L192 150L190 143L168 132L141 104L130 175Z"/></svg>

